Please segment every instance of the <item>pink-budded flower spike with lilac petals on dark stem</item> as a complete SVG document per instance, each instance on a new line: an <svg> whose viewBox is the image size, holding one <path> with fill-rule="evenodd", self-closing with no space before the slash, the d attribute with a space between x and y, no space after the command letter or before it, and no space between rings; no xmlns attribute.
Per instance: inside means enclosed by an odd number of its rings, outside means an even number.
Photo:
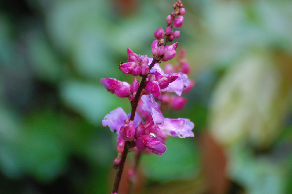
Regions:
<svg viewBox="0 0 292 194"><path fill-rule="evenodd" d="M134 76L131 84L115 78L101 79L107 91L121 98L127 97L132 108L131 113L127 115L119 107L102 120L103 126L109 126L112 132L118 134L118 155L114 159L116 179L112 194L118 191L124 163L130 150L136 152L137 155L142 152L161 155L166 151L165 139L168 136L194 137L191 131L194 123L189 119L164 118L160 110L161 107L175 110L183 108L186 99L181 97L181 94L194 86L194 81L189 80L187 76L190 65L185 59L185 50L178 52L179 63L174 67L166 64L163 70L159 66L161 61L173 59L178 47L178 42L166 46L168 42L180 37L180 31L172 31L172 28L182 27L184 21L182 15L185 9L181 1L175 2L173 8L175 11L166 17L165 30L160 27L154 32L156 40L151 44L153 58L137 55L128 48L127 62L121 63L119 68L124 74ZM142 77L141 81L137 80L137 76ZM178 96L169 95L166 92L173 92ZM157 103L154 97L161 102ZM135 172L131 175L135 176Z"/></svg>

